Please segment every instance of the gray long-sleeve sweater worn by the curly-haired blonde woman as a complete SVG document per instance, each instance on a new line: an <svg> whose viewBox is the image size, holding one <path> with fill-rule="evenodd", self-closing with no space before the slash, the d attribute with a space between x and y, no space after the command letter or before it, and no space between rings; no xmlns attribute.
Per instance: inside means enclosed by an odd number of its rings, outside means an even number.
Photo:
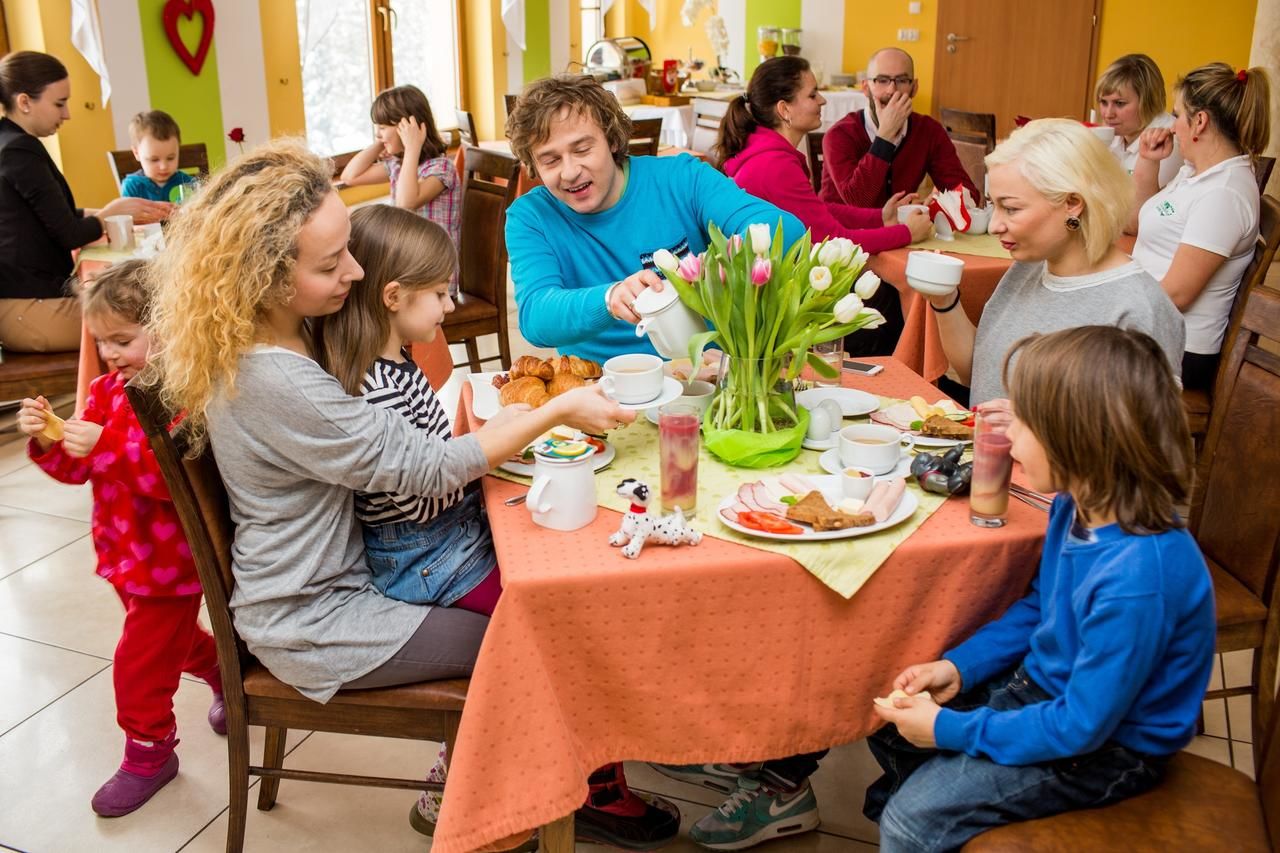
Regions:
<svg viewBox="0 0 1280 853"><path fill-rule="evenodd" d="M257 347L209 409L227 483L236 628L282 681L319 702L387 662L429 607L370 583L353 492L445 496L489 470L453 441L351 397L311 359Z"/></svg>

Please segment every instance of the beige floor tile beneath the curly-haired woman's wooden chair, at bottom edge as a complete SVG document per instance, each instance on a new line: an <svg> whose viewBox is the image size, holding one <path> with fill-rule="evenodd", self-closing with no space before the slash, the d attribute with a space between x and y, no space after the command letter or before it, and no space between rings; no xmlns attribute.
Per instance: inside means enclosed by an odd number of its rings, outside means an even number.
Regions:
<svg viewBox="0 0 1280 853"><path fill-rule="evenodd" d="M419 740L316 733L291 753L288 765L413 779L426 772L435 752L435 744ZM271 811L257 811L251 798L244 849L420 853L425 839L408 825L416 798L406 790L284 781ZM227 820L219 815L183 853L225 849Z"/></svg>

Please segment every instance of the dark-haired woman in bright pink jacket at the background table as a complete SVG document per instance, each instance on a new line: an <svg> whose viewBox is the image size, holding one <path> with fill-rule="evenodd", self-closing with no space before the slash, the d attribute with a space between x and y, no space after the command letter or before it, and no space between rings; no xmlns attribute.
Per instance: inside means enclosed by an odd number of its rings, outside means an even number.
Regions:
<svg viewBox="0 0 1280 853"><path fill-rule="evenodd" d="M737 186L800 219L814 241L847 237L874 254L927 237L929 218L923 210L911 211L906 224L897 224L897 209L915 200L905 192L883 209L828 204L818 197L799 145L806 133L822 127L826 102L808 60L776 56L760 63L721 122L716 161Z"/></svg>

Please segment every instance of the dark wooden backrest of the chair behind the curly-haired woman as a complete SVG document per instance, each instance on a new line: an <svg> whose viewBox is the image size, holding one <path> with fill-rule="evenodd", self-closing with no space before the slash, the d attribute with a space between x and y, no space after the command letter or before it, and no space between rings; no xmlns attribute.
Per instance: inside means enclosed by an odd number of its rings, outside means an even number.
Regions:
<svg viewBox="0 0 1280 853"><path fill-rule="evenodd" d="M193 457L187 451L186 430L179 423L173 433L173 412L164 407L159 386L147 386L134 378L124 388L133 406L142 432L146 433L155 453L160 474L164 476L182 530L191 547L196 574L205 592L209 624L214 629L218 661L221 666L223 686L229 699L242 690L243 670L252 656L236 633L232 622L230 596L236 587L232 575L232 542L236 524L227 503L227 489L207 446Z"/></svg>

